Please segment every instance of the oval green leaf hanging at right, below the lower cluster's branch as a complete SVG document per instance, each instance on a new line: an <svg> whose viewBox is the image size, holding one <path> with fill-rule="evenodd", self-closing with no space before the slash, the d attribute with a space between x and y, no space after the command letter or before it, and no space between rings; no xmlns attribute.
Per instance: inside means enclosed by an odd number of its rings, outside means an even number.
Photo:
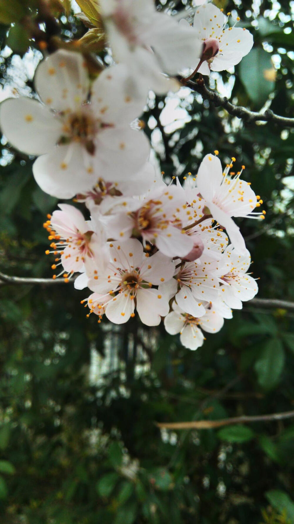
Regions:
<svg viewBox="0 0 294 524"><path fill-rule="evenodd" d="M281 341L269 340L254 366L258 384L264 389L273 389L279 383L284 364L285 352Z"/></svg>

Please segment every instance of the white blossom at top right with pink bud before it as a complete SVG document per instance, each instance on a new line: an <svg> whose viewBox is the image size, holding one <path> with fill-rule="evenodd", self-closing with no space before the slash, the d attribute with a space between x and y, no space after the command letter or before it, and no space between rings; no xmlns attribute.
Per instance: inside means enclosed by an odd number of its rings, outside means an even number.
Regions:
<svg viewBox="0 0 294 524"><path fill-rule="evenodd" d="M229 13L230 14L230 13ZM239 21L240 18L237 18ZM198 7L194 16L193 29L201 44L199 54L190 63L195 74L210 74L212 71L224 71L238 64L253 46L252 34L241 27L225 29L228 18L213 4ZM186 20L180 24L188 26Z"/></svg>

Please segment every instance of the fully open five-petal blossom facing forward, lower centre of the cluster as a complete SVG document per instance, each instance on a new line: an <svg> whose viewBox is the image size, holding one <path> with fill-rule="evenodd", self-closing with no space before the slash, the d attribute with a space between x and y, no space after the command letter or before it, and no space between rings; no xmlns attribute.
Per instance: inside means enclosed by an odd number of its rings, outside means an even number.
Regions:
<svg viewBox="0 0 294 524"><path fill-rule="evenodd" d="M125 323L134 316L136 308L144 324L158 325L161 316L168 313L169 305L153 286L172 278L175 268L172 260L160 252L149 256L135 238L110 243L110 256L106 271L96 271L96 274L94 271L88 281L91 290L107 297L105 314L108 320L115 324Z"/></svg>

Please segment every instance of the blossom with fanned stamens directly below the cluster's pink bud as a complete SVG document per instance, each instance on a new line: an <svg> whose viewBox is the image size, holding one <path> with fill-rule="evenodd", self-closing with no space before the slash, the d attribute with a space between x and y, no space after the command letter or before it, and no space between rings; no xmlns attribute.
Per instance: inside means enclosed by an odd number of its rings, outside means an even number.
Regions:
<svg viewBox="0 0 294 524"><path fill-rule="evenodd" d="M221 255L220 255L221 256ZM199 264L185 262L175 270L174 278L163 283L159 290L170 300L175 300L180 308L196 316L205 314L202 301L213 301L218 298L218 261L205 260L201 257Z"/></svg>

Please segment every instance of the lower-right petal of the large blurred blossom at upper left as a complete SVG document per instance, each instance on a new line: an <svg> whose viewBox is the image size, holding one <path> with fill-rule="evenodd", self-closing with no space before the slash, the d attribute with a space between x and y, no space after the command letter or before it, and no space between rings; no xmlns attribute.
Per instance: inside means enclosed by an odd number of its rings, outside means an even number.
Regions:
<svg viewBox="0 0 294 524"><path fill-rule="evenodd" d="M150 143L143 131L106 128L97 135L97 175L106 181L133 177L148 160Z"/></svg>

